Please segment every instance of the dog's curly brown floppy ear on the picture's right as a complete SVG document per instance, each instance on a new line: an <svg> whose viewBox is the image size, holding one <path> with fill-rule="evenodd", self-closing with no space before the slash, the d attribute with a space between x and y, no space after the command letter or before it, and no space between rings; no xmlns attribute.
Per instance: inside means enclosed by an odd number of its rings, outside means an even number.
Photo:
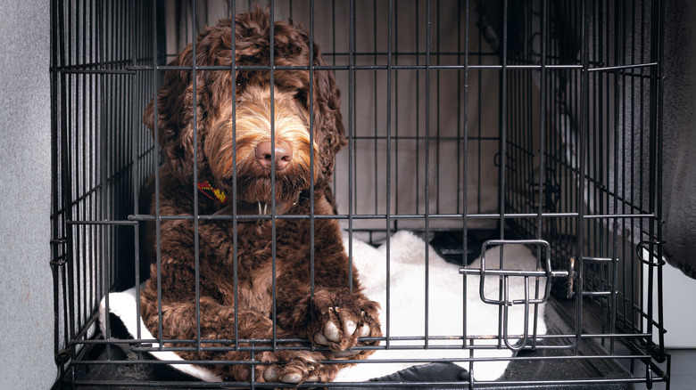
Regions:
<svg viewBox="0 0 696 390"><path fill-rule="evenodd" d="M313 63L327 66L327 61L314 45ZM341 116L341 92L336 86L333 70L314 70L314 129L315 140L319 143L319 158L322 175L331 179L334 171L336 153L346 145L344 121Z"/></svg>

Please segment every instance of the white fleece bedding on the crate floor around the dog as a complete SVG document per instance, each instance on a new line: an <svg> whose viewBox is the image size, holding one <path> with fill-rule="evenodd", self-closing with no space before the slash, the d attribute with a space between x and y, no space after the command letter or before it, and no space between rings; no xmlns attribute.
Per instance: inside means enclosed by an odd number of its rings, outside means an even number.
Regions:
<svg viewBox="0 0 696 390"><path fill-rule="evenodd" d="M344 236L344 243L347 243ZM390 238L390 337L423 337L425 332L425 253L426 244L411 232L396 232ZM429 315L428 335L437 336L461 336L463 319L463 276L460 275L460 266L445 262L437 255L433 248L429 248ZM347 250L347 248L346 248ZM385 332L386 317L386 246L374 248L369 244L352 240L352 257L355 266L360 272L360 280L365 288L365 293L370 299L382 305L381 318L383 333ZM500 247L490 248L486 254L486 268L495 268L490 264L497 264L500 256ZM534 270L536 259L532 252L521 245L506 245L504 251L505 268L512 270ZM468 265L468 268L480 268L480 258ZM485 296L498 299L498 278L491 278L485 283ZM487 305L479 297L479 277L468 276L467 292L467 336L493 336L493 339L477 339L476 345L498 345L494 337L498 334L499 310L497 305ZM543 281L541 281L543 286ZM534 289L534 283L530 283ZM522 278L510 278L510 299L522 299L525 297L524 280ZM530 291L534 296L534 291ZM105 335L104 317L106 314L105 299L102 299L100 308L100 327ZM137 316L136 288L130 288L124 292L109 294L109 310L118 316L131 335L137 335L138 322L141 338L154 338L145 328L145 325ZM530 309L533 312L534 309ZM539 305L537 335L546 333L544 318L544 305ZM524 330L524 306L513 305L509 312L510 335L520 335ZM532 334L533 319L529 321L528 334ZM516 339L510 340L514 344ZM458 343L452 340L443 340L447 345ZM423 345L423 341L396 341L390 345ZM428 345L438 345L438 340L430 340ZM382 343L384 345L384 342ZM127 345L124 345L127 347ZM153 346L158 346L156 343ZM181 362L183 361L173 352L153 352L155 359ZM476 349L476 358L506 358L513 352L504 345L501 349ZM414 352L410 350L389 349L379 350L370 356L370 360L425 360L430 362L469 358L468 349L423 349ZM425 363L425 362L424 362ZM473 374L476 380L494 380L499 378L508 365L508 361L475 362ZM461 367L469 370L468 362L458 362ZM404 370L416 365L414 362L376 362L361 363L345 368L339 372L336 382L365 381L371 378L381 378L396 371ZM195 378L205 381L219 382L222 379L211 371L192 364L171 364L171 367L185 372Z"/></svg>

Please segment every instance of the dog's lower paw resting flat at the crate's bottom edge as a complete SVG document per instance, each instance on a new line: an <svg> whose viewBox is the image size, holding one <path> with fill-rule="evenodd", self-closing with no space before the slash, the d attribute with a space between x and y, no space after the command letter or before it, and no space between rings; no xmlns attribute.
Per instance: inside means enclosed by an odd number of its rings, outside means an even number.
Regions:
<svg viewBox="0 0 696 390"><path fill-rule="evenodd" d="M337 371L334 364L325 365L297 357L289 362L270 364L261 375L264 382L300 385L305 382L330 382L336 378Z"/></svg>

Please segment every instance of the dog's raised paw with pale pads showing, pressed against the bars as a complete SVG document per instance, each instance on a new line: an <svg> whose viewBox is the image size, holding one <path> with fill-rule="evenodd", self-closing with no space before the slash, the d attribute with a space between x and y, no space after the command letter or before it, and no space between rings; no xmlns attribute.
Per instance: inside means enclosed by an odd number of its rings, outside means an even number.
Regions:
<svg viewBox="0 0 696 390"><path fill-rule="evenodd" d="M314 319L310 327L312 342L328 346L334 357L348 358L368 350L356 345L377 345L377 341L360 341L360 337L381 337L377 320L379 305L349 291L321 290L314 296Z"/></svg>

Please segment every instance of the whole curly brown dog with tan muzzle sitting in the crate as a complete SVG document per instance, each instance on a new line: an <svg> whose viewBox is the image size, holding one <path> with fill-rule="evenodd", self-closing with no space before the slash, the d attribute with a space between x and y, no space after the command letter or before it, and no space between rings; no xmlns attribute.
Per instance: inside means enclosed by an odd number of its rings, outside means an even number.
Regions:
<svg viewBox="0 0 696 390"><path fill-rule="evenodd" d="M232 64L231 29L230 20L220 20L197 37L196 65ZM268 12L257 9L236 16L237 65L269 64L269 29ZM310 51L307 31L292 22L275 22L273 44L277 66L306 67L310 61L326 65L319 47L315 45ZM187 46L170 65L191 66L193 53L193 47ZM314 214L335 213L328 183L336 152L344 146L345 138L340 94L332 72L315 70L310 77L308 70L276 70L272 87L268 70L238 70L236 74L229 70L198 70L195 86L192 78L191 70L169 70L156 100L157 120L153 102L145 110L145 124L153 132L157 124L158 141L166 158L159 175L161 215L194 213L194 167L199 182L209 181L234 196L240 208L254 202L272 202L270 177L275 175L278 214L309 215L312 198ZM273 174L269 167L261 165L257 151L261 142L270 140L271 94L276 145L290 145L293 150L289 164L280 169L277 162ZM149 184L152 191L153 183ZM220 203L198 195L200 215L212 215L222 209ZM377 345L377 341L359 338L381 337L378 305L362 294L358 272L351 269L345 255L337 221L316 219L313 232L306 218L277 219L275 232L268 218L245 221L200 220L196 270L194 222L190 218L162 219L162 261L159 265L153 263L152 277L141 296L141 314L153 335L165 340L200 337L202 350L191 348L178 354L189 360L232 362L209 368L223 378L237 381L253 378L269 382L327 382L336 377L342 364L320 362L348 356L366 358L371 351L355 347ZM145 237L153 240L156 235L151 231ZM152 254L154 243L147 247ZM305 348L280 348L275 352L267 348L254 354L254 359L261 363L250 364L251 352L244 350L249 342L239 342L239 350L229 347L235 346L236 337L273 337L274 288L276 337L295 339L291 343L278 342L278 346ZM211 339L220 341L205 342ZM310 343L315 347L312 350L308 348ZM269 342L254 345L269 346ZM213 346L228 348L210 349Z"/></svg>

